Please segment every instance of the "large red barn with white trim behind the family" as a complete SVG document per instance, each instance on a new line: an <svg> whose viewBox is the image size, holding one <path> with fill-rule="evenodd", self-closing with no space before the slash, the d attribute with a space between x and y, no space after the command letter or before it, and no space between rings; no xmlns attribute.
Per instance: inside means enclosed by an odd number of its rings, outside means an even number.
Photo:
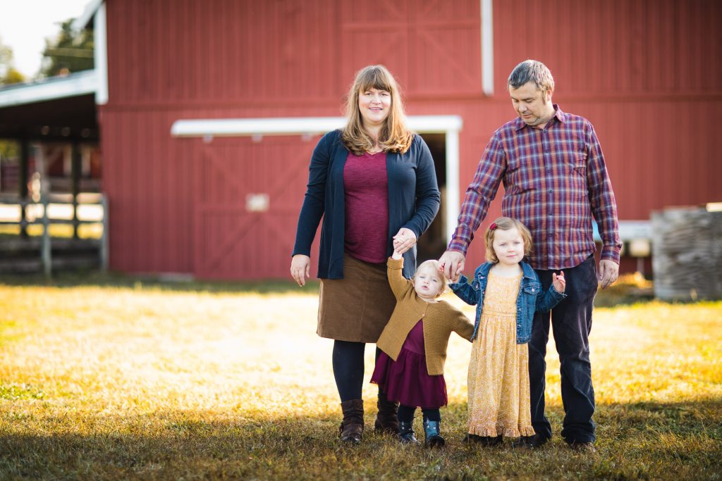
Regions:
<svg viewBox="0 0 722 481"><path fill-rule="evenodd" d="M595 125L623 240L647 235L655 209L722 200L716 0L96 3L116 270L287 278L310 153L371 63L400 81L438 164L422 257L443 251L484 145L514 117L506 79L526 58ZM471 265L483 254L474 242Z"/></svg>

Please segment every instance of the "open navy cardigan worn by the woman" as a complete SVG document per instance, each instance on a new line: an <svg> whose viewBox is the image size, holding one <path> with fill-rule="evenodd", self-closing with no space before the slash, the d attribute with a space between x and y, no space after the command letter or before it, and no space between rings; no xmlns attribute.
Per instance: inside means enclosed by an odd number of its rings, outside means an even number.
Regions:
<svg viewBox="0 0 722 481"><path fill-rule="evenodd" d="M310 257L313 237L321 226L321 248L318 252L318 277L344 277L345 194L344 166L349 151L341 139L341 131L326 133L313 149L308 185L298 216L293 254ZM388 246L393 252L393 235L411 229L417 239L434 220L439 210L440 195L431 152L421 136L414 134L405 154L386 154L388 176ZM404 253L404 276L411 278L416 270L416 246Z"/></svg>

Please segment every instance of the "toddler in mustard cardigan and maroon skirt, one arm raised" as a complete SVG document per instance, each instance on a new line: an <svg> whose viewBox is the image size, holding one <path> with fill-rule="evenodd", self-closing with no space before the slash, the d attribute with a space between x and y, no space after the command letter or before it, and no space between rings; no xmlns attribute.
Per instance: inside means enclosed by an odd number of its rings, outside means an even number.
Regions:
<svg viewBox="0 0 722 481"><path fill-rule="evenodd" d="M386 392L388 400L400 403L399 441L418 442L414 411L421 407L424 444L443 446L439 408L447 404L443 376L446 346L451 331L470 339L474 325L463 312L438 300L445 291L446 278L437 261L422 262L412 281L401 275L404 259L396 248L386 265L396 308L376 343L382 352L371 382Z"/></svg>

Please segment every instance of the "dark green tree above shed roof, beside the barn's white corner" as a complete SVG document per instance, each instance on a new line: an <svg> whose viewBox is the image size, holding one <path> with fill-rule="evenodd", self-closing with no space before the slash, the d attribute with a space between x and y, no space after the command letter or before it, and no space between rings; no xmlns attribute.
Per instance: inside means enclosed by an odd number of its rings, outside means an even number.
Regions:
<svg viewBox="0 0 722 481"><path fill-rule="evenodd" d="M72 19L63 22L54 40L45 39L40 76L71 74L93 68L92 30L76 32L71 28L72 22Z"/></svg>

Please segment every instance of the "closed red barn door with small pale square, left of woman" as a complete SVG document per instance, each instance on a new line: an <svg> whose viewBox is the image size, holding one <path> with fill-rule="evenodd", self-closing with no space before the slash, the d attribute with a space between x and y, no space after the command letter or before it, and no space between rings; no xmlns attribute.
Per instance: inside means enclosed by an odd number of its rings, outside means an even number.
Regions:
<svg viewBox="0 0 722 481"><path fill-rule="evenodd" d="M289 278L308 162L318 138L214 138L196 163L194 275Z"/></svg>

